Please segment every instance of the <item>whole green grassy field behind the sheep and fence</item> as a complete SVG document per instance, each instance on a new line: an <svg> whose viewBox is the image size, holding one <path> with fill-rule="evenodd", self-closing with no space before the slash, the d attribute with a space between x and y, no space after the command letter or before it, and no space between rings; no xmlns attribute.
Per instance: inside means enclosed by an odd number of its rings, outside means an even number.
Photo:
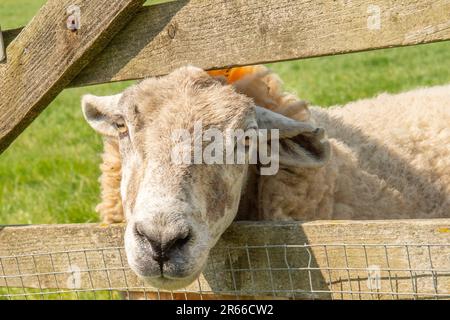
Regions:
<svg viewBox="0 0 450 320"><path fill-rule="evenodd" d="M26 24L43 0L1 0L2 29ZM271 64L286 87L330 106L450 83L450 42ZM80 97L128 83L67 89L0 155L0 224L97 221L101 139L82 119Z"/></svg>

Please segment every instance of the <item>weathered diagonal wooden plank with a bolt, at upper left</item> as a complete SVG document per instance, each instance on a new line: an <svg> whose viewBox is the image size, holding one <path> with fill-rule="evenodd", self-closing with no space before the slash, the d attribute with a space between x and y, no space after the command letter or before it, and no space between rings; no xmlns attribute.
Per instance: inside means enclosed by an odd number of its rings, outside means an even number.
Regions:
<svg viewBox="0 0 450 320"><path fill-rule="evenodd" d="M143 0L81 0L81 26L67 28L70 0L49 0L7 47L0 65L0 152L64 89L142 6Z"/></svg>

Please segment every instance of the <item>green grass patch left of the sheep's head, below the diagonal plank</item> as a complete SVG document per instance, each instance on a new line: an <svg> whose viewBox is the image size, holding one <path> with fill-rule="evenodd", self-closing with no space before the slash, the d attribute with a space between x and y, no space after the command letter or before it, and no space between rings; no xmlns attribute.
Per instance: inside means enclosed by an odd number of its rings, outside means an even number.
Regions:
<svg viewBox="0 0 450 320"><path fill-rule="evenodd" d="M80 97L126 86L65 90L1 155L0 224L97 220L101 138L85 124Z"/></svg>

